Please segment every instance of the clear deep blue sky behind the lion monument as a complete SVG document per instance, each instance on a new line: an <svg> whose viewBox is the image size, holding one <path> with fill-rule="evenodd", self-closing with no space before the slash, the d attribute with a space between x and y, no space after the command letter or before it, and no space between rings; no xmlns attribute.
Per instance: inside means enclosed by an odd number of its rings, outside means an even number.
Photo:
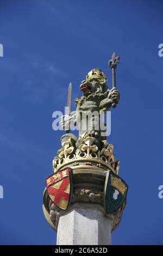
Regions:
<svg viewBox="0 0 163 256"><path fill-rule="evenodd" d="M163 244L162 21L161 0L1 0L1 244L55 244L42 213L45 179L64 134L52 130L52 113L64 110L70 81L73 99L81 95L79 83L92 68L105 71L111 87L114 51L121 101L108 141L129 191L112 243Z"/></svg>

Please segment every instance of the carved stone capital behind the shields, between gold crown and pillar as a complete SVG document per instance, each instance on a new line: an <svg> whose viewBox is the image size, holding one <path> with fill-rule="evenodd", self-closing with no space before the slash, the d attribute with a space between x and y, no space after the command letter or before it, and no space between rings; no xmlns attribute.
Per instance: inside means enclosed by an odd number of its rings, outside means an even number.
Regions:
<svg viewBox="0 0 163 256"><path fill-rule="evenodd" d="M90 166L90 168L92 167ZM64 211L55 206L47 190L44 191L43 212L48 223L56 231L58 229L60 216L76 207L93 207L102 211L103 214L111 220L112 231L120 223L126 202L122 205L121 209L118 209L113 214L106 215L104 209L104 182L106 173L90 168L73 170L73 191L68 210Z"/></svg>

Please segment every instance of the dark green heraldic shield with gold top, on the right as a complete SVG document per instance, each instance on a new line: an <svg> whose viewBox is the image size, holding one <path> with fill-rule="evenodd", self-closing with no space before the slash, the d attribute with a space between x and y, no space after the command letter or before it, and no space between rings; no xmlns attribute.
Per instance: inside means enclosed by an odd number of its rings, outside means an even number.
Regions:
<svg viewBox="0 0 163 256"><path fill-rule="evenodd" d="M106 214L111 214L126 205L127 191L126 182L110 170L106 174L104 188Z"/></svg>

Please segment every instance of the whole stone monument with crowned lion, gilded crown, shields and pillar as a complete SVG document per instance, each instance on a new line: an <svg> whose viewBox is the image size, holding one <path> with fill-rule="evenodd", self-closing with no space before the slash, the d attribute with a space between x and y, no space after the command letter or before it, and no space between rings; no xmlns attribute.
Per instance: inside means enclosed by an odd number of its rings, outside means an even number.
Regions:
<svg viewBox="0 0 163 256"><path fill-rule="evenodd" d="M57 245L111 245L111 232L121 221L128 185L118 176L120 161L106 140L102 121L120 100L115 80L118 62L113 53L112 89L100 69L87 74L80 84L83 96L76 99L73 112L71 83L68 88L67 111L61 118L66 134L43 192L43 213L57 231ZM70 133L72 125L78 127L78 137Z"/></svg>

